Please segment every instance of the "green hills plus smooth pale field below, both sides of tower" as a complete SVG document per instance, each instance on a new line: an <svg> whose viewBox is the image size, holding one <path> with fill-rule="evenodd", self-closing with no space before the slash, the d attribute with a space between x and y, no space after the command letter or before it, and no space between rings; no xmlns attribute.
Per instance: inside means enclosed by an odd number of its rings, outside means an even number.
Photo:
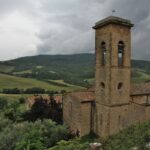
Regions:
<svg viewBox="0 0 150 150"><path fill-rule="evenodd" d="M0 69L1 72L6 73L6 69L11 67L12 69L7 69L9 70L10 75L25 77L28 79L16 78L9 75L4 75L4 77L1 74L0 88L41 87L49 90L68 90L81 88L76 86L73 87L67 85L66 83L88 87L91 85L88 80L94 78L94 59L95 56L93 54L40 55L1 62L0 66L3 66L2 69ZM149 81L149 66L149 61L132 60L132 81ZM135 68L137 68L138 71L135 71ZM146 76L141 74L143 71ZM44 82L30 78L38 79ZM55 82L55 80L63 80L65 81L65 84Z"/></svg>

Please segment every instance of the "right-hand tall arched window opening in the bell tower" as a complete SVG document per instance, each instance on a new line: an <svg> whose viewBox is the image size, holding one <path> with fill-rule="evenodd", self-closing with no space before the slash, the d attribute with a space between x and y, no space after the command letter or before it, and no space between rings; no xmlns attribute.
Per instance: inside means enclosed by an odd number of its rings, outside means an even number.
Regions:
<svg viewBox="0 0 150 150"><path fill-rule="evenodd" d="M125 45L123 41L119 41L118 43L118 66L123 66L124 47Z"/></svg>

